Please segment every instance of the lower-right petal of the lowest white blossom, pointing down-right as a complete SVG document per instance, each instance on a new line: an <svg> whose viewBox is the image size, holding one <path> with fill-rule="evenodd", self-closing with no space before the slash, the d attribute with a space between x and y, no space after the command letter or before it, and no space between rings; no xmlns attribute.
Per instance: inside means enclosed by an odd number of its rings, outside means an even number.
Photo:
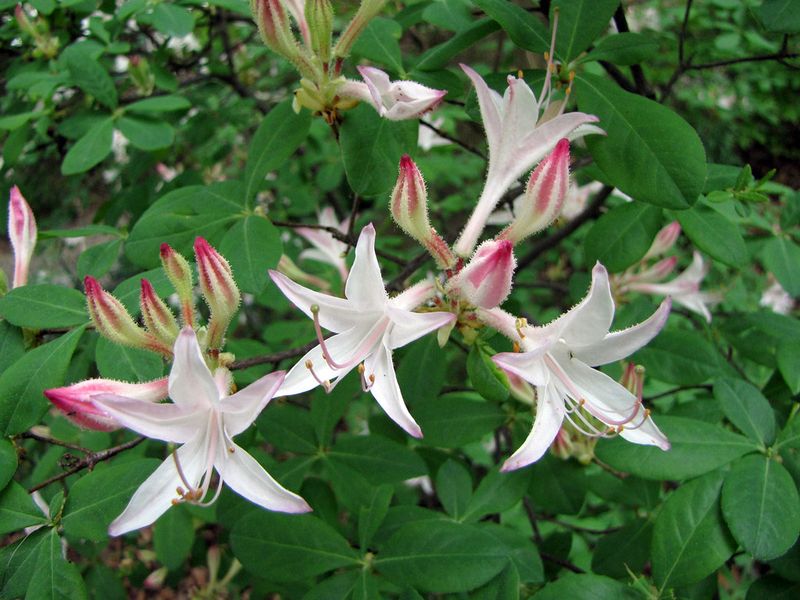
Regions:
<svg viewBox="0 0 800 600"><path fill-rule="evenodd" d="M222 445L214 467L234 492L269 510L288 513L309 512L311 507L300 496L290 492L242 447L233 444L233 452Z"/></svg>

